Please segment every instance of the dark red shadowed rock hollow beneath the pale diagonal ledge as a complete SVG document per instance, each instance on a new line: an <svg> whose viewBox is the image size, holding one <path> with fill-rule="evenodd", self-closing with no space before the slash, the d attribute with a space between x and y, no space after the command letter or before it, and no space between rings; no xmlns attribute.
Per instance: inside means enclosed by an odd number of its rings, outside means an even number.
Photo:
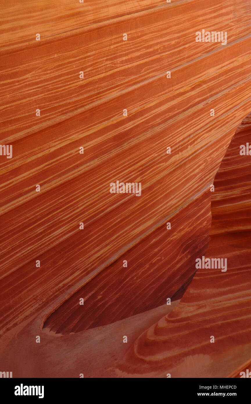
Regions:
<svg viewBox="0 0 251 404"><path fill-rule="evenodd" d="M169 219L171 229L161 225L131 248L123 257L128 267L119 259L79 289L50 315L44 328L60 334L79 332L158 307L167 298L179 299L195 274L195 258L208 246L209 212L205 193Z"/></svg>

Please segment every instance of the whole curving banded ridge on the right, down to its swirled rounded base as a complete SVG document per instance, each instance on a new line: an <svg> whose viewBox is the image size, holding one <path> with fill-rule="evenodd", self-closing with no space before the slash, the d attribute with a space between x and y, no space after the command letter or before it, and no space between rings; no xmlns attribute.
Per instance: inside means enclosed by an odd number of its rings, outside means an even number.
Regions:
<svg viewBox="0 0 251 404"><path fill-rule="evenodd" d="M240 155L240 145L248 142L251 114L237 128L212 192L211 242L205 259L227 258L227 271L198 269L174 310L137 339L137 358L174 367L181 357L194 356L196 368L196 358L207 355L215 371L210 365L203 369L204 377L229 375L226 365L216 363L219 358L224 357L232 369L244 359L250 361L251 156ZM196 372L195 368L189 371Z"/></svg>

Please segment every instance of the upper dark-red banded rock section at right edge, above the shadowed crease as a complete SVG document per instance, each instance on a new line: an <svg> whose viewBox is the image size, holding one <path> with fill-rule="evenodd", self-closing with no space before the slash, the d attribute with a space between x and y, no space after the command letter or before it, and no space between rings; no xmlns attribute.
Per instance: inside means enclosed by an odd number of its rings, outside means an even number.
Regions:
<svg viewBox="0 0 251 404"><path fill-rule="evenodd" d="M238 126L214 180L210 234L251 230L250 159L240 155L240 146L251 146L251 114ZM251 152L251 148L249 149Z"/></svg>

